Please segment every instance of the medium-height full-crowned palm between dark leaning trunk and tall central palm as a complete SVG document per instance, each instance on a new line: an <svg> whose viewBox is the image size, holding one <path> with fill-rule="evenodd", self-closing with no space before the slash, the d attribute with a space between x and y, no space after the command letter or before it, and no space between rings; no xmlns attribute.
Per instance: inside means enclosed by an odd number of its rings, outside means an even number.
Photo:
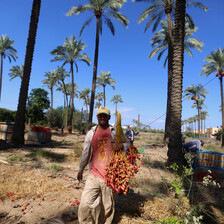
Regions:
<svg viewBox="0 0 224 224"><path fill-rule="evenodd" d="M72 117L74 111L74 71L73 66L76 66L76 72L78 72L78 61L83 61L87 65L90 65L91 60L88 58L86 53L81 53L87 46L83 43L83 41L77 41L75 36L71 36L70 40L66 37L65 43L63 46L58 46L56 49L51 51L52 55L56 55L54 59L51 61L62 61L62 66L66 64L70 64L71 74L72 74L72 106L71 106L71 114L70 114L70 125L72 127Z"/></svg>

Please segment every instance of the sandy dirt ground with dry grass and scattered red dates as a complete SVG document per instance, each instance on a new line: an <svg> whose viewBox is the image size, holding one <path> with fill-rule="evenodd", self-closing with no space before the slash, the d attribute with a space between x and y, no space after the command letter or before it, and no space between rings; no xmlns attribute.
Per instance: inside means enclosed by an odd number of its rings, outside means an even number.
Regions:
<svg viewBox="0 0 224 224"><path fill-rule="evenodd" d="M47 144L26 142L18 148L0 142L0 223L78 223L77 209L88 175L86 169L83 181L79 183L76 179L84 137L79 133L62 137L54 132ZM155 223L189 209L186 201L178 211L178 201L170 199L164 184L163 178L174 178L165 169L167 146L150 133L140 133L135 146L145 147L140 153L141 159L150 164L142 165L136 175L140 187L133 187L127 196L117 196L113 223ZM60 170L55 171L57 168ZM217 203L216 196L210 196L213 205ZM224 199L223 194L218 197ZM224 223L222 211L213 207L214 214L221 218L210 223Z"/></svg>

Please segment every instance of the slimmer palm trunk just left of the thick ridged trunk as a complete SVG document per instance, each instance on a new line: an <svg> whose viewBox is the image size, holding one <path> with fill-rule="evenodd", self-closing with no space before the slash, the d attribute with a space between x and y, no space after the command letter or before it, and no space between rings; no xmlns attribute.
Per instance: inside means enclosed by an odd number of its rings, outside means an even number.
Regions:
<svg viewBox="0 0 224 224"><path fill-rule="evenodd" d="M171 93L172 93L173 42L172 42L171 10L167 12L167 24L168 24L168 83L167 85L168 86L167 86L167 104L166 104L166 122L165 122L164 141L168 141L169 139L170 107L171 107Z"/></svg>

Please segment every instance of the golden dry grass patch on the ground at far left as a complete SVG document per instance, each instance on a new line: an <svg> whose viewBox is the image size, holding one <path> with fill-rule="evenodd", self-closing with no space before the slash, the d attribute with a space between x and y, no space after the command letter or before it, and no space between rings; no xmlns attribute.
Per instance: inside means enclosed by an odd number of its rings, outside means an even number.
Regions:
<svg viewBox="0 0 224 224"><path fill-rule="evenodd" d="M48 170L29 169L19 166L5 166L0 164L0 198L24 198L36 195L46 195L50 191L64 192L65 186L58 183Z"/></svg>

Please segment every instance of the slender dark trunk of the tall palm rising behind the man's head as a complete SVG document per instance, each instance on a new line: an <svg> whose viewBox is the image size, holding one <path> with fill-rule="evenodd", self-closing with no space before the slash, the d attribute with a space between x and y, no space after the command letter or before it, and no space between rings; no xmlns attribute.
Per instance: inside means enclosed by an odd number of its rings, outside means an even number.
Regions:
<svg viewBox="0 0 224 224"><path fill-rule="evenodd" d="M95 99L95 90L96 90L96 75L97 75L98 53L99 53L99 39L100 39L99 24L100 24L100 17L97 17L95 56L94 56L94 66L93 66L93 80L92 80L92 91L91 91L91 100L90 100L88 129L91 128L92 120L93 120L93 109L94 109L94 99Z"/></svg>

